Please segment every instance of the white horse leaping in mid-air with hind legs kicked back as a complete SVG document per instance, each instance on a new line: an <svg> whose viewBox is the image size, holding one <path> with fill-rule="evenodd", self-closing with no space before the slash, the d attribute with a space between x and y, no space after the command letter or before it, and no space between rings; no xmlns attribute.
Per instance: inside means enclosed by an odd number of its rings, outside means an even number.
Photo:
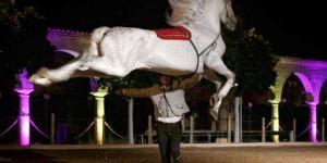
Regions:
<svg viewBox="0 0 327 163"><path fill-rule="evenodd" d="M203 73L206 66L227 78L221 89L211 78L218 90L211 111L218 115L221 100L234 83L234 74L221 60L226 45L220 33L220 22L229 29L235 27L231 0L169 0L169 4L172 10L167 12L167 23L187 28L191 41L164 40L148 29L99 27L78 58L55 70L41 67L29 80L46 86L71 77L124 77L134 70L185 75Z"/></svg>

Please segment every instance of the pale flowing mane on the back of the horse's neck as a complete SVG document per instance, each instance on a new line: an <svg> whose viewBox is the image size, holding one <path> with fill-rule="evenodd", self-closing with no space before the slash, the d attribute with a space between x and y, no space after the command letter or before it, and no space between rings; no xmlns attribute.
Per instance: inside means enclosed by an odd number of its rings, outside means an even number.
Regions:
<svg viewBox="0 0 327 163"><path fill-rule="evenodd" d="M194 12L199 5L203 5L203 0L168 0L170 10L166 12L166 22L171 26L179 26L187 20L194 18Z"/></svg>

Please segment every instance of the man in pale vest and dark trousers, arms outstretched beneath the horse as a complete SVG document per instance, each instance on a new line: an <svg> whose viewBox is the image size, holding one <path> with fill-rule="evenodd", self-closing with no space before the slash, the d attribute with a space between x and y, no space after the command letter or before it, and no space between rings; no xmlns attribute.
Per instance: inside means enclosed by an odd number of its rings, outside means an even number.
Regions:
<svg viewBox="0 0 327 163"><path fill-rule="evenodd" d="M181 118L190 112L185 101L185 89L193 87L202 78L194 74L184 80L172 79L171 76L161 75L159 84L149 88L118 89L117 95L137 98L150 98L155 106L157 121L157 135L162 163L181 162L180 143L182 139Z"/></svg>

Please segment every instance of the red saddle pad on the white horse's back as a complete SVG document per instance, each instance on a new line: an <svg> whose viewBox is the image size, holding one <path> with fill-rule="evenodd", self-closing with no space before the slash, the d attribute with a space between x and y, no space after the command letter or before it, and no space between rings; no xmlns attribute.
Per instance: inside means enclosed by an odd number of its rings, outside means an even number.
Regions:
<svg viewBox="0 0 327 163"><path fill-rule="evenodd" d="M156 29L157 36L161 39L190 40L191 33L183 26L174 28Z"/></svg>

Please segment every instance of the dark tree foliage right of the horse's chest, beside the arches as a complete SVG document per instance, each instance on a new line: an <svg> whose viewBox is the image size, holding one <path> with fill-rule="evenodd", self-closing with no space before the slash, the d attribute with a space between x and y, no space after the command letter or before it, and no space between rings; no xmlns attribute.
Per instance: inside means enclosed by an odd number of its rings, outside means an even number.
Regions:
<svg viewBox="0 0 327 163"><path fill-rule="evenodd" d="M255 28L239 29L225 36L227 51L223 60L237 75L238 92L267 91L275 85L277 63L276 54L269 42Z"/></svg>

